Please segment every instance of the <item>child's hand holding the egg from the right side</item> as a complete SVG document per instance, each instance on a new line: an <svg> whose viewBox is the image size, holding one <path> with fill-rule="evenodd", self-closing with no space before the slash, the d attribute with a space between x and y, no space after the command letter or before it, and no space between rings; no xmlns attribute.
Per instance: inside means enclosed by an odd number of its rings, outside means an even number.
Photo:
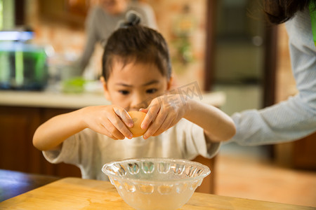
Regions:
<svg viewBox="0 0 316 210"><path fill-rule="evenodd" d="M176 125L187 113L187 103L187 97L180 94L166 94L153 99L147 109L140 110L147 113L141 125L144 130L148 127L143 138L157 136Z"/></svg>

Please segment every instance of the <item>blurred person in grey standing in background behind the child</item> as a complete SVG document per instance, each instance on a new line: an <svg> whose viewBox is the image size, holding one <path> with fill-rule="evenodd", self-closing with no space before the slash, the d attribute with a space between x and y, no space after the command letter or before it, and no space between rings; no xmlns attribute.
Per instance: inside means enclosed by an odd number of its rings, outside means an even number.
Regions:
<svg viewBox="0 0 316 210"><path fill-rule="evenodd" d="M120 20L124 20L126 13L134 10L141 16L141 24L157 29L154 11L147 3L131 0L99 0L88 12L86 18L86 44L78 64L80 72L90 61L96 43L105 45L110 34L117 29Z"/></svg>

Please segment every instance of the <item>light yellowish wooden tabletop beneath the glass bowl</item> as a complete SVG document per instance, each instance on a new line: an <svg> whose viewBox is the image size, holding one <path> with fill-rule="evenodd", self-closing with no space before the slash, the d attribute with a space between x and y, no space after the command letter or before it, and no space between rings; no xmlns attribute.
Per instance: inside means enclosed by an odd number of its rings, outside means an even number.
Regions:
<svg viewBox="0 0 316 210"><path fill-rule="evenodd" d="M0 203L0 209L132 209L107 181L65 178ZM194 193L180 209L313 209Z"/></svg>

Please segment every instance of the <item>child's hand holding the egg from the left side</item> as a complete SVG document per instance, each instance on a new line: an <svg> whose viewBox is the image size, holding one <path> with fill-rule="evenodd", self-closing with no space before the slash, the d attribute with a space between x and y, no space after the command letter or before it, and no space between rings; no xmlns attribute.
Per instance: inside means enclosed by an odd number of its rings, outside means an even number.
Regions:
<svg viewBox="0 0 316 210"><path fill-rule="evenodd" d="M119 106L88 106L82 109L86 127L114 140L131 139L133 134L126 127L133 127L133 120L127 111Z"/></svg>

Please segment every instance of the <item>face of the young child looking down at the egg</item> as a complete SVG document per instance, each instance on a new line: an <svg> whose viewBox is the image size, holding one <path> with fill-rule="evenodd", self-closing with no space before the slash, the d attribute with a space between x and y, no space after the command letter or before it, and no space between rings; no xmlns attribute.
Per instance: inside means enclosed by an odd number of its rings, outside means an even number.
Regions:
<svg viewBox="0 0 316 210"><path fill-rule="evenodd" d="M114 62L112 67L107 82L103 79L105 97L126 111L147 108L152 99L164 94L171 86L171 79L163 76L154 64L131 62L123 66Z"/></svg>

